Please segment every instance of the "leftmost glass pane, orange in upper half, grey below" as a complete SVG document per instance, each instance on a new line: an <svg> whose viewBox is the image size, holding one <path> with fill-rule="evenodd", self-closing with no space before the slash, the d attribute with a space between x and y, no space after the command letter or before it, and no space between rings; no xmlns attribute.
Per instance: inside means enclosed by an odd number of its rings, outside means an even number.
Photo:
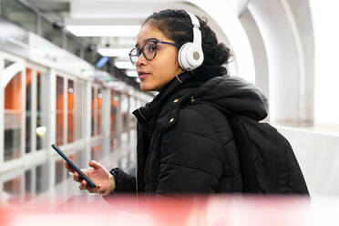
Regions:
<svg viewBox="0 0 339 226"><path fill-rule="evenodd" d="M21 157L21 99L21 72L18 72L5 87L5 161Z"/></svg>

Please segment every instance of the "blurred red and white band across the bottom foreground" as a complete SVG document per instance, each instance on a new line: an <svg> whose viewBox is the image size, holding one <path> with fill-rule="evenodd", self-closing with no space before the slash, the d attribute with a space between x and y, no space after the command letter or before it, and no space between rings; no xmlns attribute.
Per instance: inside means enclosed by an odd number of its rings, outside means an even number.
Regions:
<svg viewBox="0 0 339 226"><path fill-rule="evenodd" d="M302 197L74 197L0 206L0 225L338 225L339 200Z"/></svg>

